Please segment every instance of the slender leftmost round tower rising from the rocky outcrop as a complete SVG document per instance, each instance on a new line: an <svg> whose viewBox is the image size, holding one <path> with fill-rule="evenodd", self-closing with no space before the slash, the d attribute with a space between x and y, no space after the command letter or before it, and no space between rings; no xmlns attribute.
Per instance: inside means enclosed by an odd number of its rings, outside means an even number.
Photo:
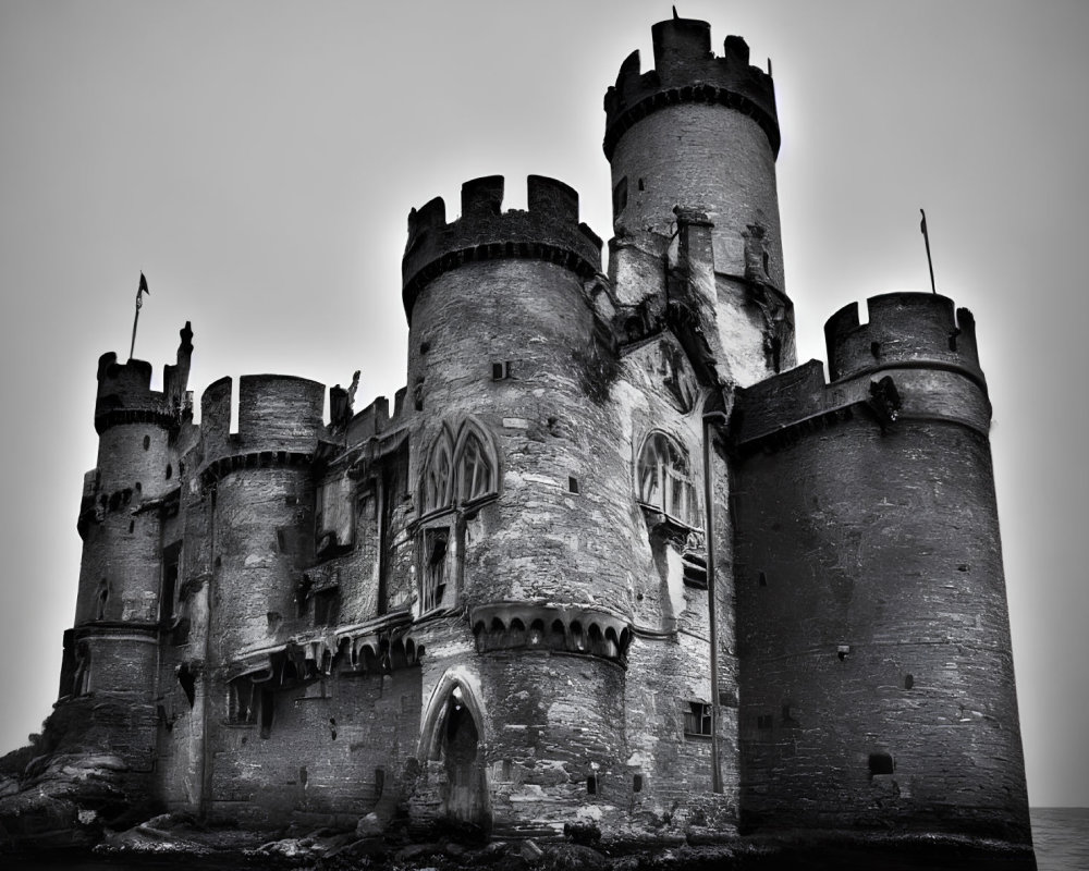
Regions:
<svg viewBox="0 0 1089 871"><path fill-rule="evenodd" d="M65 639L61 698L94 700L88 740L101 735L134 770L155 752L159 628L163 596L162 522L179 496L175 437L185 406L193 332L181 332L178 365L152 391L151 365L113 353L98 364L98 464L87 474L74 628ZM167 593L169 596L169 591Z"/></svg>

